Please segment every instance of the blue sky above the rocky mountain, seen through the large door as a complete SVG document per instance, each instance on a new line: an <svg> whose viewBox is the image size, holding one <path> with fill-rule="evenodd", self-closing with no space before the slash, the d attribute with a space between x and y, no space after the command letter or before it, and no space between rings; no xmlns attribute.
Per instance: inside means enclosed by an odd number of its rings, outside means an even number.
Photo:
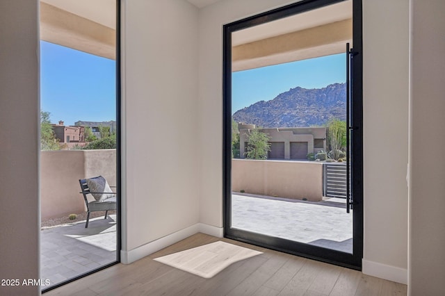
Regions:
<svg viewBox="0 0 445 296"><path fill-rule="evenodd" d="M335 54L234 72L232 114L257 101L274 99L291 88L324 88L346 82L346 54Z"/></svg>

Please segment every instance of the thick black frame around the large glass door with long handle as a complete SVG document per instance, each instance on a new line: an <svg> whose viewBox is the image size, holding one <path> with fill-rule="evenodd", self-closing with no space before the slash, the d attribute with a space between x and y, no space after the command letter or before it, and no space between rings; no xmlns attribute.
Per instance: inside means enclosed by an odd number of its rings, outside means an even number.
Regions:
<svg viewBox="0 0 445 296"><path fill-rule="evenodd" d="M351 190L353 203L353 254L307 245L283 238L231 229L232 210L232 32L283 17L321 8L345 0L303 0L266 13L254 15L223 26L223 225L225 238L248 242L269 249L312 258L318 261L362 270L363 257L363 59L362 59L362 0L353 0L353 58L351 122ZM346 45L346 44L345 44ZM346 209L345 209L346 211Z"/></svg>

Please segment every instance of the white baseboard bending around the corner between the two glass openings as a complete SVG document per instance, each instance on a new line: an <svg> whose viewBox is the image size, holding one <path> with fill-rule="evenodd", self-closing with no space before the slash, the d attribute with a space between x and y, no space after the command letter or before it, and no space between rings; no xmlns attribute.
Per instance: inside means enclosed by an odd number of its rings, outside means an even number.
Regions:
<svg viewBox="0 0 445 296"><path fill-rule="evenodd" d="M149 254L173 245L176 242L179 242L179 240L184 240L184 238L193 236L193 234L198 232L208 234L209 236L216 236L218 238L223 237L222 227L215 227L209 224L197 223L192 225L191 227L181 229L179 231L176 231L175 233L169 234L168 236L164 236L163 238L159 238L145 245L137 247L136 249L132 249L130 251L120 251L120 262L124 264L133 263L134 261L138 261L140 258L144 258Z"/></svg>

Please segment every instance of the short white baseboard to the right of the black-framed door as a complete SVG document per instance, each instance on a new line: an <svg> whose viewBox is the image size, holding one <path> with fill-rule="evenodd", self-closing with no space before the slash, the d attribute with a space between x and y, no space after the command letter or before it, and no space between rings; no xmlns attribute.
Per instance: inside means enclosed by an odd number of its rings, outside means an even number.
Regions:
<svg viewBox="0 0 445 296"><path fill-rule="evenodd" d="M408 283L408 270L396 266L385 265L373 261L362 260L362 272L380 279L396 281L396 283Z"/></svg>

